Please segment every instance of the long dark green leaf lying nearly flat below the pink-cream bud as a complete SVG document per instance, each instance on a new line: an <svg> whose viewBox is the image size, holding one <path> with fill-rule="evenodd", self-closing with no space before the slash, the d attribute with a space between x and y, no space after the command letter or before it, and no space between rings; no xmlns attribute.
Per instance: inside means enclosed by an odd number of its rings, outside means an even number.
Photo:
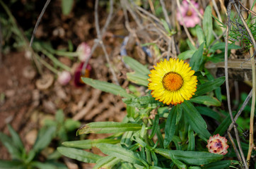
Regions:
<svg viewBox="0 0 256 169"><path fill-rule="evenodd" d="M168 150L168 149L154 149L157 154L161 154L165 158L170 158L173 155L177 160L183 161L190 165L206 165L211 162L219 161L223 158L219 154L211 154L200 151L182 151L182 150Z"/></svg>

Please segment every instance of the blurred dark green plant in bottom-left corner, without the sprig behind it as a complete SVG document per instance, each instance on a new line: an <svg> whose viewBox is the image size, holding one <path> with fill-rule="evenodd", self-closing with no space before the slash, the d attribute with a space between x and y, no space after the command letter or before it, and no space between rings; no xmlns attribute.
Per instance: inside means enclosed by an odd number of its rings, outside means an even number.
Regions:
<svg viewBox="0 0 256 169"><path fill-rule="evenodd" d="M27 153L23 142L21 142L21 137L18 133L13 130L11 125L8 125L8 130L11 133L11 137L0 132L0 141L11 154L11 161L0 161L0 168L59 168L66 169L66 165L58 163L55 159L47 158L44 163L38 161L37 156L40 152L45 149L52 139L54 138L54 133L57 128L52 127L42 127L37 134L37 139L33 148ZM59 156L58 156L59 157Z"/></svg>

